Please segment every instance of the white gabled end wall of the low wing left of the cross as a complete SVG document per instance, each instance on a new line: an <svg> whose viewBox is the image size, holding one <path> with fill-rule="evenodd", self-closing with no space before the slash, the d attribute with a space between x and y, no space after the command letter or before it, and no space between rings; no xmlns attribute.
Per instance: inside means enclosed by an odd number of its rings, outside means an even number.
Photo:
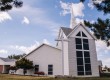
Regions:
<svg viewBox="0 0 110 80"><path fill-rule="evenodd" d="M41 46L36 51L26 57L33 61L34 65L39 65L39 71L48 75L48 65L53 65L53 75L62 75L61 51L47 45ZM17 71L16 74L22 74L23 71ZM26 75L33 75L34 70L28 70Z"/></svg>

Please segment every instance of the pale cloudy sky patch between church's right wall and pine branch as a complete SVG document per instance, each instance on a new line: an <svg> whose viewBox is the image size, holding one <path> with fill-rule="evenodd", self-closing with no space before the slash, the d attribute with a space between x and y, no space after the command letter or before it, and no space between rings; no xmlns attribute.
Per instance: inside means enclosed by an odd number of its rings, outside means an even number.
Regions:
<svg viewBox="0 0 110 80"><path fill-rule="evenodd" d="M107 47L106 43L101 40L96 41L96 50L98 59L102 60L103 65L107 65L110 67L110 46Z"/></svg>

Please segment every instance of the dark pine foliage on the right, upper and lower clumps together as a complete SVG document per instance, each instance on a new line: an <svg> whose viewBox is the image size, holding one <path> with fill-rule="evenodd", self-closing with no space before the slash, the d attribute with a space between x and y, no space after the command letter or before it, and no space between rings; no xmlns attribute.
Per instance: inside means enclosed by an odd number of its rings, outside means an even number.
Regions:
<svg viewBox="0 0 110 80"><path fill-rule="evenodd" d="M84 2L85 0L80 1ZM104 15L110 14L110 0L102 0L101 3L95 3L96 0L92 1L98 11L104 12ZM105 20L98 18L95 23L84 20L84 24L94 32L97 39L106 42L107 46L110 46L110 18Z"/></svg>

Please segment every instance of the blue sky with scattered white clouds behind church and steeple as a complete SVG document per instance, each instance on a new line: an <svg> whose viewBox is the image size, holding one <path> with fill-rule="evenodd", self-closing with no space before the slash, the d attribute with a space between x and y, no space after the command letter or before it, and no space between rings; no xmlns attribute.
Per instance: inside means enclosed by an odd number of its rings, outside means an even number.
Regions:
<svg viewBox="0 0 110 80"><path fill-rule="evenodd" d="M91 0L22 0L23 7L0 12L0 57L29 53L42 43L55 45L60 27L70 27L70 5L76 22L95 22L98 17L106 19L93 6ZM98 0L100 3L100 0ZM110 67L110 47L96 41L98 60Z"/></svg>

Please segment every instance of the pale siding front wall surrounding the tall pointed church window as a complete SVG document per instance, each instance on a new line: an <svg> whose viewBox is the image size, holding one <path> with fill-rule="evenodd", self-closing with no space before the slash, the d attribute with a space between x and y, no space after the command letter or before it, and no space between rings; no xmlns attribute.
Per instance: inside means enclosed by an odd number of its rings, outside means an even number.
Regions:
<svg viewBox="0 0 110 80"><path fill-rule="evenodd" d="M91 58L91 70L92 75L85 75L82 77L98 77L99 76L99 69L98 69L98 60L96 54L96 47L95 47L95 40L93 37L88 34L88 32L82 27L79 26L76 30L69 36L69 75L79 77L77 75L77 60L76 60L76 43L75 37L79 31L83 31L87 39L89 40L89 51L90 51L90 58Z"/></svg>

